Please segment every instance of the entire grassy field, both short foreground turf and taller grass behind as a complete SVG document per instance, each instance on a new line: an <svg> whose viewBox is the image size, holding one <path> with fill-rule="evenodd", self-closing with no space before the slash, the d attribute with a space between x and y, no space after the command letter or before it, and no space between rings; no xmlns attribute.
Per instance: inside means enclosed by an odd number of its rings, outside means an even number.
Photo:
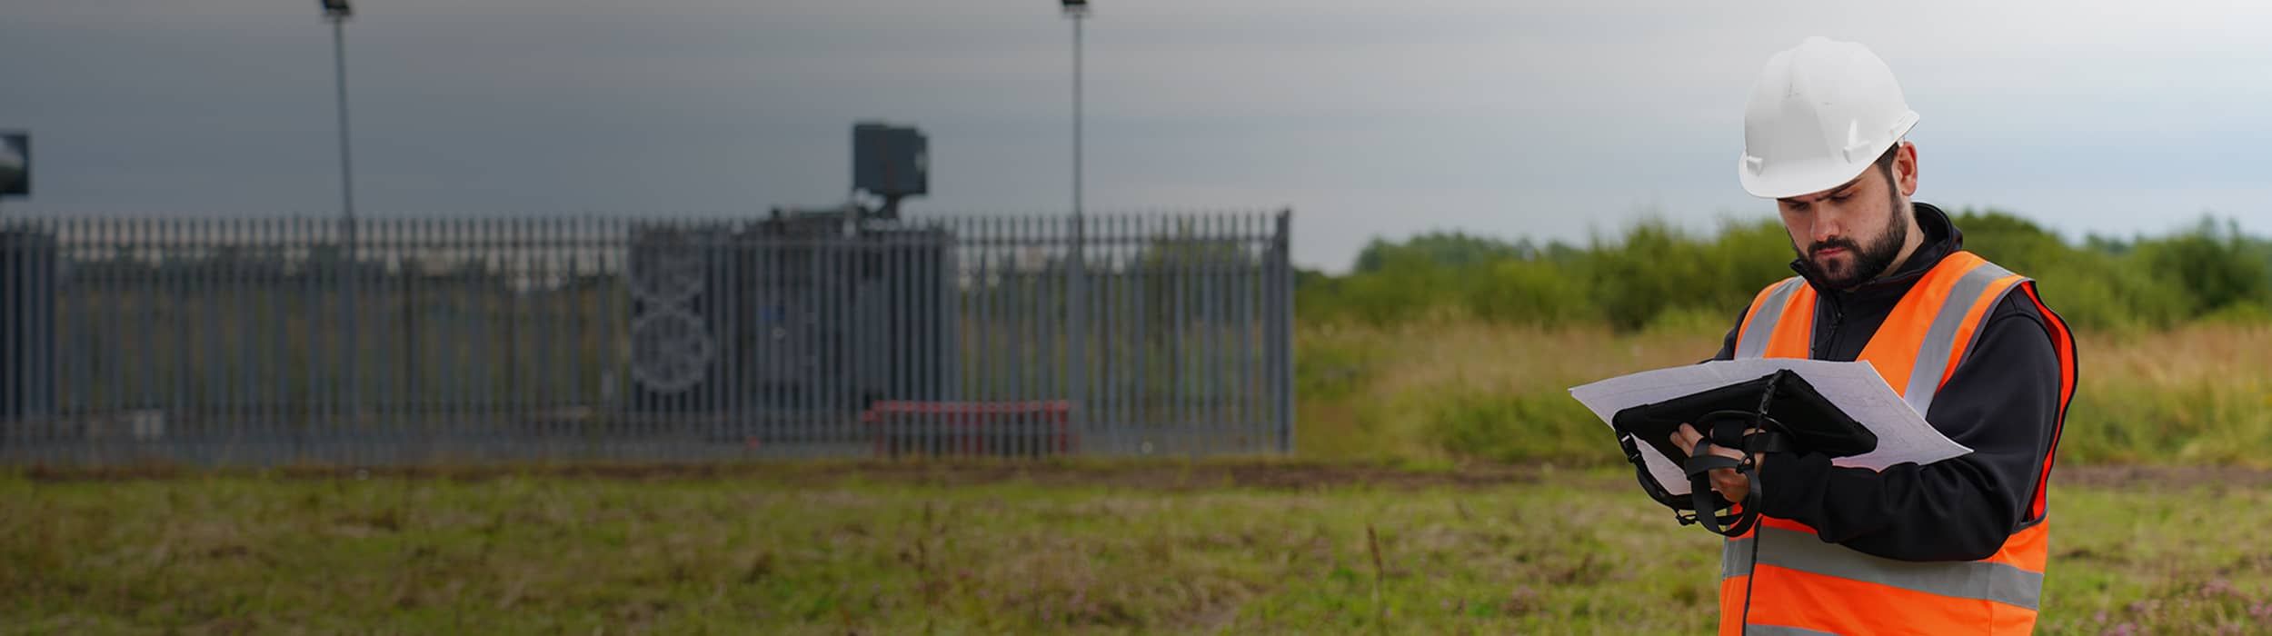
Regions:
<svg viewBox="0 0 2272 636"><path fill-rule="evenodd" d="M1281 461L0 472L0 634L1697 634L1565 388L1720 320L1309 325ZM2267 348L2083 336L2043 631L2272 634Z"/></svg>

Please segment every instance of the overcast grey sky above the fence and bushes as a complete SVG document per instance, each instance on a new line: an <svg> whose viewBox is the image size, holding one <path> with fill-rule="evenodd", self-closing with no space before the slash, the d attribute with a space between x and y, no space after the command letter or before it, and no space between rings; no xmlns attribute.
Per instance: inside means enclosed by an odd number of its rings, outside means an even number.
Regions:
<svg viewBox="0 0 2272 636"><path fill-rule="evenodd" d="M1088 209L1295 209L1370 236L1584 238L1763 218L1743 100L1809 34L1872 45L1924 118L1918 200L2081 232L2272 229L2272 2L1095 0ZM1836 7L1834 7L1836 5ZM361 0L366 216L838 202L850 127L932 139L911 214L1070 207L1054 2ZM314 0L0 0L7 209L336 214Z"/></svg>

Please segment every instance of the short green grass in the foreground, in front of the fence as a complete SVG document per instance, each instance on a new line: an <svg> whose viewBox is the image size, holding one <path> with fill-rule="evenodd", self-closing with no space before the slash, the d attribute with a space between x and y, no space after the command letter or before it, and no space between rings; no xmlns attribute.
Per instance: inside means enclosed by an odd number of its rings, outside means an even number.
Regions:
<svg viewBox="0 0 2272 636"><path fill-rule="evenodd" d="M2272 475L2058 479L2045 631L2272 629ZM0 477L0 634L1695 634L1715 572L1613 470Z"/></svg>

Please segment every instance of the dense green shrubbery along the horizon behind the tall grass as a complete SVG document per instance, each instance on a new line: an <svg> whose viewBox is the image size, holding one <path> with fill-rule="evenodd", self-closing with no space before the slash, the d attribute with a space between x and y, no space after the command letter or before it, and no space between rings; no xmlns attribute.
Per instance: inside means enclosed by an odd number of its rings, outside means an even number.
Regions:
<svg viewBox="0 0 2272 636"><path fill-rule="evenodd" d="M1965 248L2038 279L2052 309L2079 329L2165 329L2199 318L2272 316L2272 241L2202 220L2167 236L2068 243L2004 211L1963 211ZM1790 275L1777 220L1722 223L1699 236L1649 220L1588 245L1422 234L1372 241L1347 275L1304 273L1300 316L1395 325L1454 316L1515 325L1729 325L1761 286Z"/></svg>

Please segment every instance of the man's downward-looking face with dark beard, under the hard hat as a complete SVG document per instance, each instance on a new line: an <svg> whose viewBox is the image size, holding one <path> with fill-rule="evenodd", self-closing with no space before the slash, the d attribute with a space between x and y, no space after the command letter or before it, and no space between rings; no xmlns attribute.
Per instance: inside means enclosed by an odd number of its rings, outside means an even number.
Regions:
<svg viewBox="0 0 2272 636"><path fill-rule="evenodd" d="M1915 166L1913 159L1895 164L1893 173ZM1790 232L1790 250L1806 270L1831 288L1852 288L1883 275L1902 257L1908 238L1908 204L1902 191L1886 168L1870 166L1843 186L1781 198L1774 207L1784 216L1784 229Z"/></svg>

